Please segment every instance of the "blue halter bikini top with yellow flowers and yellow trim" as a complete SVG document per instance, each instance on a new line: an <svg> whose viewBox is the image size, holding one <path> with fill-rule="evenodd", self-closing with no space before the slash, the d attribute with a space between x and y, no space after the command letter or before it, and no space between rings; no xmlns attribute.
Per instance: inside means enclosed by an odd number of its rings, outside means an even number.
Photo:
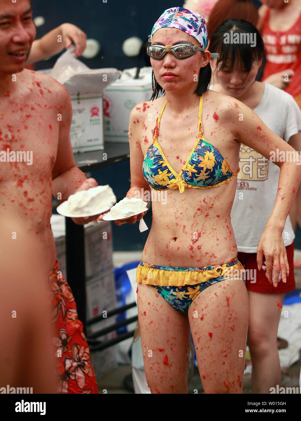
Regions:
<svg viewBox="0 0 301 421"><path fill-rule="evenodd" d="M156 127L153 130L153 143L145 152L142 165L143 176L151 189L179 188L180 193L183 193L185 187L198 189L218 187L220 184L228 183L233 176L237 177L237 173L231 170L218 149L203 138L203 95L200 97L199 104L197 141L180 173L177 174L172 169L157 141L166 102L167 100L157 118Z"/></svg>

